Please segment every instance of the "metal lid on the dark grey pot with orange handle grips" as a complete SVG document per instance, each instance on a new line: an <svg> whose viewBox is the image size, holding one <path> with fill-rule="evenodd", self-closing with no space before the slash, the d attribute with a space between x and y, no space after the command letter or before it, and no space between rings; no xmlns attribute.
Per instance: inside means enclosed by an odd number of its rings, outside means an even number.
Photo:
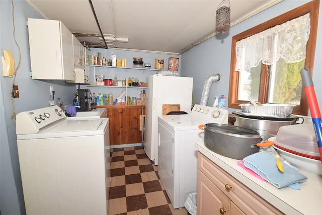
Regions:
<svg viewBox="0 0 322 215"><path fill-rule="evenodd" d="M260 133L258 133L257 131L240 126L208 123L205 125L205 129L209 130L210 132L220 133L239 138L260 138Z"/></svg>

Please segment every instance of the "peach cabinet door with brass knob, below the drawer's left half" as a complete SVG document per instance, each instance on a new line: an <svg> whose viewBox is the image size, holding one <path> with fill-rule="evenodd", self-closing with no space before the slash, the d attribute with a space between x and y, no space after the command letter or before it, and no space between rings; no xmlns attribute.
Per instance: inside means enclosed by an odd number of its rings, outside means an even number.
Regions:
<svg viewBox="0 0 322 215"><path fill-rule="evenodd" d="M230 200L198 169L197 214L229 214Z"/></svg>

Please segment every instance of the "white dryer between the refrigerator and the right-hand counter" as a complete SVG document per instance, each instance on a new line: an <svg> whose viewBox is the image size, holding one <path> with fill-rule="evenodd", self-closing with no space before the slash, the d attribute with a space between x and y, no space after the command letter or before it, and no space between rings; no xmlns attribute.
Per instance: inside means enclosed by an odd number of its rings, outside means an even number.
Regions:
<svg viewBox="0 0 322 215"><path fill-rule="evenodd" d="M228 123L228 111L196 104L187 115L158 117L158 175L174 208L197 192L197 150L203 141L199 125Z"/></svg>

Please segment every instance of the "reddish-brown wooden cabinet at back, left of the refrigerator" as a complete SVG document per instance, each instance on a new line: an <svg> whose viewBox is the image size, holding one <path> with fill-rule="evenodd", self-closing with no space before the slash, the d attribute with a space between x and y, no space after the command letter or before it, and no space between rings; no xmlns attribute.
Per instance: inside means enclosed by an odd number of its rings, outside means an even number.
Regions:
<svg viewBox="0 0 322 215"><path fill-rule="evenodd" d="M110 121L110 145L135 144L142 142L140 115L144 105L96 106L107 109ZM144 114L144 112L143 112Z"/></svg>

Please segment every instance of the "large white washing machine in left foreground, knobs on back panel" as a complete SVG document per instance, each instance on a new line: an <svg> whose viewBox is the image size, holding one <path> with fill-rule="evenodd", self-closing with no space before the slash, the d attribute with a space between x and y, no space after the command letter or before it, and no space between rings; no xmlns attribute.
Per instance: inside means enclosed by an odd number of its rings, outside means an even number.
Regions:
<svg viewBox="0 0 322 215"><path fill-rule="evenodd" d="M67 120L58 106L16 120L27 214L107 214L109 120Z"/></svg>

